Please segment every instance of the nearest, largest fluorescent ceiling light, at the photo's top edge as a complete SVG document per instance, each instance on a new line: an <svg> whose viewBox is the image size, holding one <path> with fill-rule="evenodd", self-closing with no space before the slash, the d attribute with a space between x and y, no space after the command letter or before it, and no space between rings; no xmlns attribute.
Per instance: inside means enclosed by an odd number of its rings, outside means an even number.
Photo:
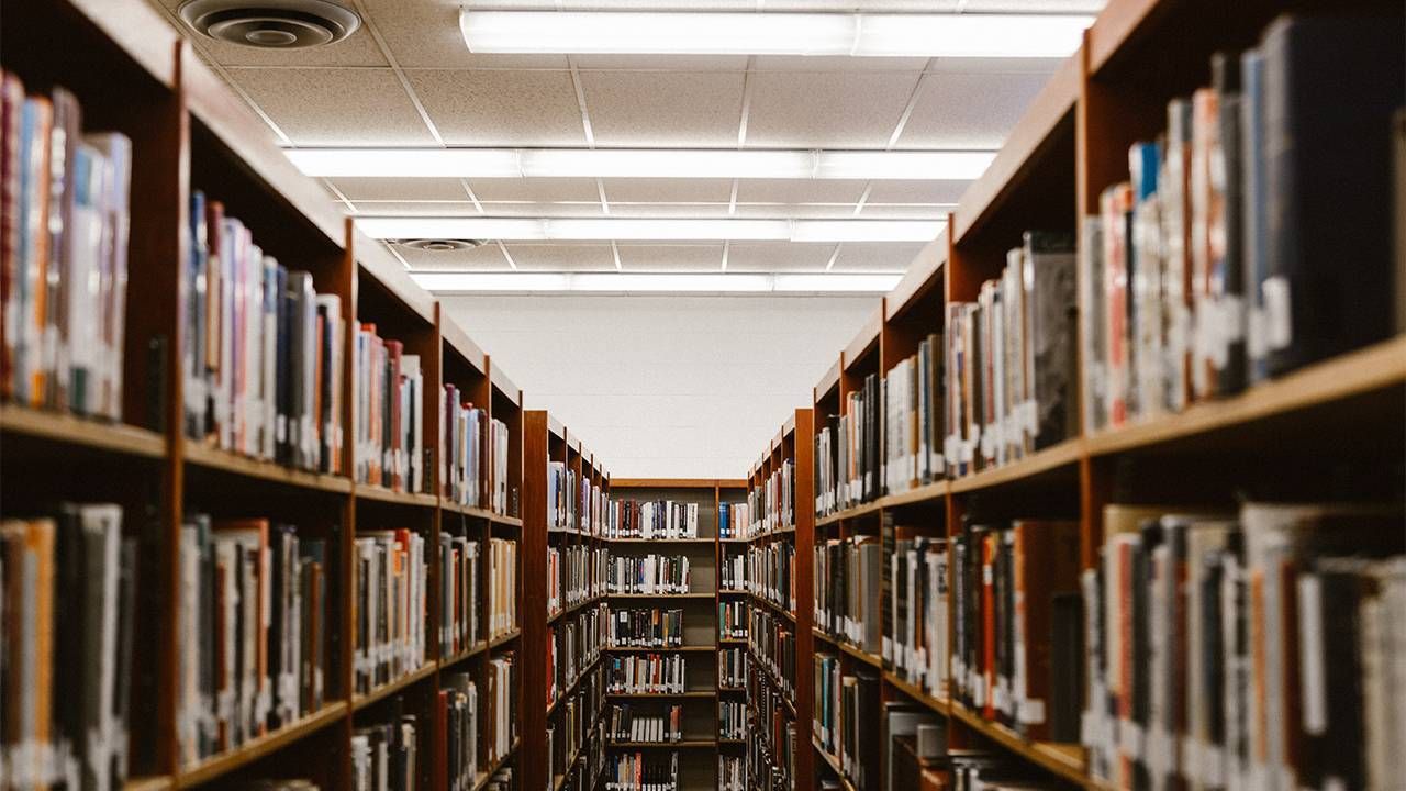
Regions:
<svg viewBox="0 0 1406 791"><path fill-rule="evenodd" d="M1064 58L1090 15L460 11L471 52Z"/></svg>

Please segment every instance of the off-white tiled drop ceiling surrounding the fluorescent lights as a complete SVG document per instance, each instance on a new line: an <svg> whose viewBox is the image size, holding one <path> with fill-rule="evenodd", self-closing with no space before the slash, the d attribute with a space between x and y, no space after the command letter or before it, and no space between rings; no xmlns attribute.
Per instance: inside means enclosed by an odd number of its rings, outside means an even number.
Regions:
<svg viewBox="0 0 1406 791"><path fill-rule="evenodd" d="M183 0L150 0L183 27ZM283 146L997 149L1052 59L481 55L458 11L1094 13L1104 0L342 0L343 42L270 52L193 35ZM322 179L364 217L941 220L969 182ZM433 272L901 273L914 242L498 242L392 251Z"/></svg>

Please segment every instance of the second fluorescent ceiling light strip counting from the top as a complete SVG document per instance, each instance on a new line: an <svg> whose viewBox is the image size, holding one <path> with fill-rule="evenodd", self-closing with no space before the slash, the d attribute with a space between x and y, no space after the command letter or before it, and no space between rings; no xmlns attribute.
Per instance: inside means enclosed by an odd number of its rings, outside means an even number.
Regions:
<svg viewBox="0 0 1406 791"><path fill-rule="evenodd" d="M294 148L307 176L395 179L977 179L991 151Z"/></svg>

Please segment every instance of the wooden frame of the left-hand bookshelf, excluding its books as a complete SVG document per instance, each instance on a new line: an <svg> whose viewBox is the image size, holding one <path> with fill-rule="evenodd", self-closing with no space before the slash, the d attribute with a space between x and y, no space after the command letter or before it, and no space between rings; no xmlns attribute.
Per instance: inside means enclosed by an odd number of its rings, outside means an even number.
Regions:
<svg viewBox="0 0 1406 791"><path fill-rule="evenodd" d="M432 766L444 733L434 716L446 678L468 673L479 692L485 742L486 667L520 656L517 628L492 639L485 588L477 591L481 629L458 650L441 650L439 533L486 543L522 540L517 497L523 479L522 391L426 291L415 286L391 255L357 234L277 149L266 125L245 108L179 34L141 0L4 0L0 34L3 68L27 93L69 89L83 110L84 131L115 129L134 144L131 243L122 369L125 386L114 422L22 407L0 405L0 502L4 517L42 514L46 504L110 501L122 507L122 532L142 545L139 618L132 647L127 788L202 788L256 777L307 777L322 788L352 785L354 729L385 722L392 712L416 716L423 788L443 788ZM22 31L49 30L67 45L44 46ZM290 270L308 272L318 294L335 297L346 319L344 349L353 328L377 324L382 338L418 355L423 388L415 410L423 415L425 481L392 491L357 484L353 443L340 446L339 473L292 469L193 439L183 431L181 305L177 262L188 260L186 228L191 194L225 205L256 243ZM340 381L353 393L352 366ZM503 422L508 439L506 502L494 510L467 507L441 495L437 446L443 384L453 383ZM340 424L350 432L352 398L342 398ZM538 470L534 467L533 473ZM488 473L485 473L486 476ZM529 476L531 477L531 476ZM485 481L486 483L486 481ZM301 539L325 540L326 609L323 695L283 726L243 743L183 760L179 747L177 667L181 529L188 514L212 519L264 518L297 525ZM357 622L353 540L364 531L404 528L425 539L425 657L418 667L356 692L353 652ZM522 555L517 555L519 560ZM486 563L486 560L484 560ZM522 580L522 573L515 578ZM488 580L479 576L479 584ZM516 593L516 591L515 591ZM516 608L520 595L508 602ZM149 602L149 607L146 605ZM520 681L522 674L517 674ZM520 690L508 700L520 701ZM513 718L505 718L512 723ZM516 740L501 754L481 752L470 787L515 761ZM316 754L325 760L308 761Z"/></svg>

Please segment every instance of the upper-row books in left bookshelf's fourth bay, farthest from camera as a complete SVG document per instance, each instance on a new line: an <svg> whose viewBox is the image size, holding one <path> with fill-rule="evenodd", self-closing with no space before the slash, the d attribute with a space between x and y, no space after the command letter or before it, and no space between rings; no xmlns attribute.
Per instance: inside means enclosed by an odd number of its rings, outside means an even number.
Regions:
<svg viewBox="0 0 1406 791"><path fill-rule="evenodd" d="M440 494L450 502L508 514L508 424L465 401L453 384L444 386L440 421Z"/></svg>

